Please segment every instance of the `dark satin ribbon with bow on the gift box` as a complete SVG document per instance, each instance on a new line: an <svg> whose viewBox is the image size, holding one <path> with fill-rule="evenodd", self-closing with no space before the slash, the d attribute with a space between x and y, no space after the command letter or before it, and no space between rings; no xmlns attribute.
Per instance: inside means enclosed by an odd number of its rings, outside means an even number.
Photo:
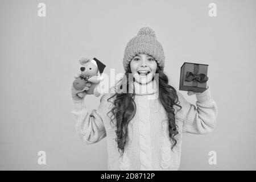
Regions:
<svg viewBox="0 0 256 182"><path fill-rule="evenodd" d="M206 82L208 80L208 77L204 73L198 74L198 72L199 72L199 64L194 64L194 73L187 72L185 81L193 81L192 86L196 86L196 87L197 87L197 82L200 82L200 83Z"/></svg>

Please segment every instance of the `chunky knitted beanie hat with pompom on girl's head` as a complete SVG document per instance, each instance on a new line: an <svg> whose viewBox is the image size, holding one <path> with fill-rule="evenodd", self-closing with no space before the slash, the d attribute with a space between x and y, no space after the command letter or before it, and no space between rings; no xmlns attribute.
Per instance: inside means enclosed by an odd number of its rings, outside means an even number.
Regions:
<svg viewBox="0 0 256 182"><path fill-rule="evenodd" d="M156 40L155 31L150 27L143 27L139 30L137 36L132 38L126 48L123 56L123 68L127 71L130 61L138 53L147 53L154 57L160 68L164 68L164 51L162 44Z"/></svg>

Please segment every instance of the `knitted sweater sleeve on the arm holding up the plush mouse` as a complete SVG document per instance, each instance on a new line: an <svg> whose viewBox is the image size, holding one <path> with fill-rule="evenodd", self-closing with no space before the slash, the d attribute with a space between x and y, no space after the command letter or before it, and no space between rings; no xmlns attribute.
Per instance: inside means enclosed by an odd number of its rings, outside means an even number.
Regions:
<svg viewBox="0 0 256 182"><path fill-rule="evenodd" d="M104 126L104 119L108 110L106 102L106 94L104 94L98 109L93 109L92 113L89 114L84 104L84 98L79 101L73 100L75 110L72 110L72 114L76 118L75 129L83 142L93 144L106 137Z"/></svg>

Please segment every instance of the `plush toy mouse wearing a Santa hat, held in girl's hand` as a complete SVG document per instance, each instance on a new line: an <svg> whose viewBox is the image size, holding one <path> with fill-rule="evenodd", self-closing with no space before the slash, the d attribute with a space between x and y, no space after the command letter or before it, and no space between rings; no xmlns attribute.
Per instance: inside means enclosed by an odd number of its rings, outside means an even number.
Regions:
<svg viewBox="0 0 256 182"><path fill-rule="evenodd" d="M79 62L83 67L80 68L81 74L75 76L76 80L73 82L74 88L77 90L82 90L84 89L86 82L90 82L91 86L90 89L86 91L86 94L94 94L96 97L100 96L100 81L104 79L101 74L106 65L101 63L101 61L96 59L96 57L94 57L92 60L82 57ZM100 71L99 75L98 71ZM78 95L80 97L84 97L84 93L79 93Z"/></svg>

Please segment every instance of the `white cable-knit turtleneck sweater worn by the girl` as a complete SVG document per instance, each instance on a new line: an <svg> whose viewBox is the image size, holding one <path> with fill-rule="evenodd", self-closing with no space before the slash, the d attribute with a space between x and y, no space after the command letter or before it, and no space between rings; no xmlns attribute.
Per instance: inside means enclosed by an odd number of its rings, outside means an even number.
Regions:
<svg viewBox="0 0 256 182"><path fill-rule="evenodd" d="M107 99L114 93L104 94L100 106L93 109L92 113L86 110L84 99L73 101L75 110L72 113L76 118L79 137L87 144L99 142L106 137L109 170L177 170L180 166L182 134L207 134L213 131L217 105L210 97L209 87L205 92L196 94L197 107L177 92L178 104L182 109L174 106L179 134L175 136L177 144L172 151L167 114L158 100L158 89L153 86L154 83L134 82L137 111L128 126L129 140L123 155L119 154L117 142L114 140L117 136L115 125L110 123L112 113L107 115L113 106ZM113 90L114 88L110 89ZM116 123L116 120L113 122Z"/></svg>

